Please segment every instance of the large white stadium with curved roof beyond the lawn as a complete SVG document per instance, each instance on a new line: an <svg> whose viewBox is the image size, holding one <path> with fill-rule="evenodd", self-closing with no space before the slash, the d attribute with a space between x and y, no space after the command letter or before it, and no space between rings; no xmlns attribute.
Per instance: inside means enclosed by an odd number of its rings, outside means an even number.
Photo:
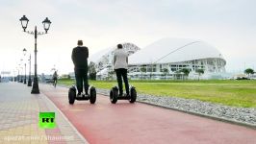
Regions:
<svg viewBox="0 0 256 144"><path fill-rule="evenodd" d="M204 41L164 38L139 48L122 43L129 54L128 75L132 80L222 79L226 60L217 48ZM90 57L96 79L115 79L113 56L116 46ZM184 72L184 69L189 71ZM199 72L203 71L203 72Z"/></svg>

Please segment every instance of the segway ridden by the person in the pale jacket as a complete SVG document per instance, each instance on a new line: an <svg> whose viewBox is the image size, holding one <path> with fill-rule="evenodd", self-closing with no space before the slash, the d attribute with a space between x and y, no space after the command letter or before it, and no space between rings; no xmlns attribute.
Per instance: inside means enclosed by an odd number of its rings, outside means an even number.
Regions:
<svg viewBox="0 0 256 144"><path fill-rule="evenodd" d="M112 87L111 92L110 92L110 100L112 104L115 104L117 100L129 100L130 103L136 102L137 99L137 91L136 88L133 85L129 86L129 95L122 95L119 96L118 93L118 87L115 85Z"/></svg>

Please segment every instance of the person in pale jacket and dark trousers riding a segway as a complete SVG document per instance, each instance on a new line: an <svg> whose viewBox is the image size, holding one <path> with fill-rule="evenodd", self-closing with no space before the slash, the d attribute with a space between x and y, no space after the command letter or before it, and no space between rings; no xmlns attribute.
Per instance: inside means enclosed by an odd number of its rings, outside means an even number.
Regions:
<svg viewBox="0 0 256 144"><path fill-rule="evenodd" d="M125 85L126 95L129 95L129 83L127 79L128 54L122 49L122 45L117 45L114 54L114 69L117 78L119 96L123 95L122 79Z"/></svg>

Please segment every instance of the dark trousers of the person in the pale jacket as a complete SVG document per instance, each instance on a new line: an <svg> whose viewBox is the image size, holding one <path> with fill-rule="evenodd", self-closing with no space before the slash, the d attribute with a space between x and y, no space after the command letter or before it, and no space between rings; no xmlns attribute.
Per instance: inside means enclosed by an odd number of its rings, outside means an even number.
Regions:
<svg viewBox="0 0 256 144"><path fill-rule="evenodd" d="M119 94L123 94L123 89L122 89L122 79L125 85L125 90L126 94L129 94L129 84L128 84L128 79L127 79L127 69L124 68L119 68L115 69L116 73L116 78L117 78L117 83L118 83L118 88L119 88Z"/></svg>

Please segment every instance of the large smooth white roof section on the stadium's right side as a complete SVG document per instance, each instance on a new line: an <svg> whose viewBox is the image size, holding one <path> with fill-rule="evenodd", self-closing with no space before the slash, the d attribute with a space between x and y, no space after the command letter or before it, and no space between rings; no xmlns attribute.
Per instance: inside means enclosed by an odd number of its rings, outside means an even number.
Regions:
<svg viewBox="0 0 256 144"><path fill-rule="evenodd" d="M164 38L130 56L129 64L169 63L209 58L223 59L218 49L203 41Z"/></svg>

